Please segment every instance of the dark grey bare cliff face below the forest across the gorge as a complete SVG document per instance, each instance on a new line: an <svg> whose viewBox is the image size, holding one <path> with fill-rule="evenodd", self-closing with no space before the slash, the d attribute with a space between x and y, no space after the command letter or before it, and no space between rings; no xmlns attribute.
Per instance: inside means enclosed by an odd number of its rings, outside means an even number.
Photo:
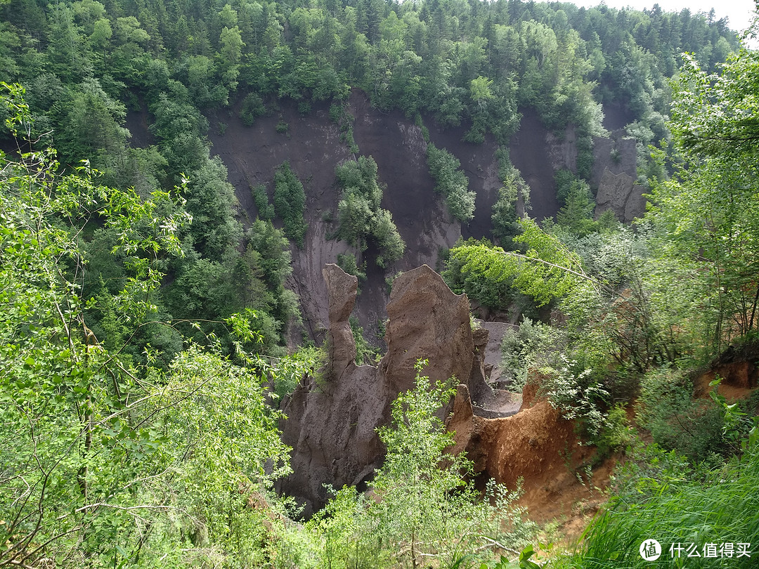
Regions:
<svg viewBox="0 0 759 569"><path fill-rule="evenodd" d="M442 197L434 191L435 182L427 169L427 143L420 127L401 112L385 114L377 111L364 93L355 90L349 99L348 110L355 117L354 140L360 153L373 157L379 180L386 184L382 206L392 213L407 245L403 258L384 271L374 265L376 252L371 247L362 259L359 251L330 239L336 226L329 220L335 218L339 201L335 166L352 159L353 155L341 140L338 125L329 120L327 103L314 105L313 111L304 116L298 113L294 102L282 102L278 112L259 118L251 127L245 127L235 115L230 115L223 118L228 123L223 136L216 132L216 124L222 118L216 118L211 121L212 134L209 136L213 142L212 152L221 156L227 165L242 218L253 220L257 215L250 188L265 184L272 196L274 171L285 160L290 162L304 184L308 231L304 247L293 246L293 273L288 288L301 298L305 334L317 343L325 338L329 325L328 300L321 270L326 263L336 262L339 253L351 251L360 262L367 260L367 281L360 284L356 313L367 339L377 344L379 323L388 316L385 310L389 300L386 277L423 264L435 267L440 250L452 247L458 237L490 237L490 217L501 186L497 145L492 137L487 137L483 144L462 142L465 125L440 130L433 121L425 121L430 140L459 159L470 189L477 193L474 219L462 227L452 220ZM276 130L280 122L288 124L286 133ZM625 144L617 145L622 149L622 166L628 175L632 163L632 173L635 174L634 144L631 148ZM603 153L608 155L613 147L603 146L603 140L597 142L597 147L601 149L596 153L601 164ZM631 158L628 156L630 151ZM568 128L563 137L556 137L540 123L535 112L524 110L509 152L512 162L531 185L531 217L541 220L556 215L554 172L559 168L575 168L574 130ZM610 165L613 172L618 169L618 164L610 159L603 164ZM605 196L603 188L609 184L602 186L599 195ZM624 191L629 193L631 188L631 178L625 178ZM615 190L616 197L612 199L622 200L621 208L614 207L619 217L626 219L635 208L628 207L628 193L618 197L620 191ZM293 344L300 340L297 333L291 336Z"/></svg>

